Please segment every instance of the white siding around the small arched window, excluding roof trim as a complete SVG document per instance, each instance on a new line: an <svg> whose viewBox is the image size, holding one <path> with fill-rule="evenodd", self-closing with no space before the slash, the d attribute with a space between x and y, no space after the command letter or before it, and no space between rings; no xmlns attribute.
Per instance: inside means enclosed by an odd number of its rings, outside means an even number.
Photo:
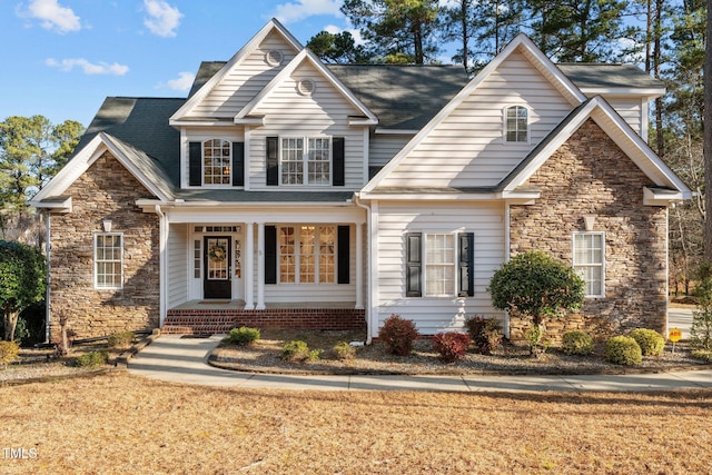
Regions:
<svg viewBox="0 0 712 475"><path fill-rule="evenodd" d="M530 142L505 144L502 111L517 103L530 109ZM392 170L382 186L495 186L571 110L551 82L522 53L514 52Z"/></svg>

